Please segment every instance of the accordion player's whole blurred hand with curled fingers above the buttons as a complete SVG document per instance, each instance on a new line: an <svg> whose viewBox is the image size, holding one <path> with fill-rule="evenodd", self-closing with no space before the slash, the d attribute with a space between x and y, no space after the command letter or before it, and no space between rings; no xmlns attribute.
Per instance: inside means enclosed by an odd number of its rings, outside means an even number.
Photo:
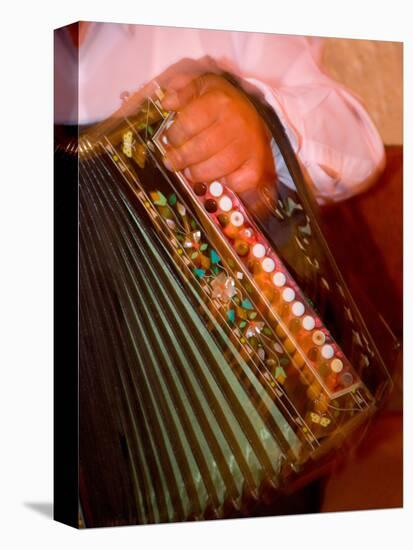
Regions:
<svg viewBox="0 0 413 550"><path fill-rule="evenodd" d="M270 133L247 97L208 74L170 87L163 106L177 111L168 129L165 165L193 182L221 179L243 192L275 181Z"/></svg>

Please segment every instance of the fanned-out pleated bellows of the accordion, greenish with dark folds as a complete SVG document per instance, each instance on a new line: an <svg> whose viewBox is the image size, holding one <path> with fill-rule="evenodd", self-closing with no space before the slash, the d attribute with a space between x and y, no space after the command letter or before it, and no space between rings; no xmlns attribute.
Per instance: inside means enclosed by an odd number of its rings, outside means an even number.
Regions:
<svg viewBox="0 0 413 550"><path fill-rule="evenodd" d="M133 206L102 180L84 187L81 364L96 376L102 364L116 371L138 519L184 520L209 505L218 513L226 500L240 504L266 476L278 479L279 434L297 451L299 440L218 321L207 325L196 311L196 296L165 265Z"/></svg>

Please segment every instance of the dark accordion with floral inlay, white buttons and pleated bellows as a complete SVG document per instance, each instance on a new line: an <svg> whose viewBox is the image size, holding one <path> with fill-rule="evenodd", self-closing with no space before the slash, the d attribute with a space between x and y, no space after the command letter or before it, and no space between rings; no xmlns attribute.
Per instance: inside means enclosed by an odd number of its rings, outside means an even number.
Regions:
<svg viewBox="0 0 413 550"><path fill-rule="evenodd" d="M87 526L246 515L351 446L391 386L274 112L251 98L287 176L239 197L165 170L161 97L78 143Z"/></svg>

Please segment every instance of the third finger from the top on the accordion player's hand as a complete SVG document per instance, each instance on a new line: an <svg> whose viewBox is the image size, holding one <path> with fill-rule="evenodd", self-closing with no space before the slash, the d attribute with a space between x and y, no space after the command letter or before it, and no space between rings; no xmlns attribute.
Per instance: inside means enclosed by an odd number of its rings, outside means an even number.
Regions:
<svg viewBox="0 0 413 550"><path fill-rule="evenodd" d="M212 124L180 147L170 148L164 162L174 170L198 164L225 149L232 141L231 132L220 124Z"/></svg>

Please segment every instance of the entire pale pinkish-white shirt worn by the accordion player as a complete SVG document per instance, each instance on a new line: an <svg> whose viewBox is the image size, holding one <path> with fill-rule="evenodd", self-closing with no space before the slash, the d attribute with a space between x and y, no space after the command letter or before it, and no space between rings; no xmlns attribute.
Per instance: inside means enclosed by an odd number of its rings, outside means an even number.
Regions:
<svg viewBox="0 0 413 550"><path fill-rule="evenodd" d="M56 31L56 122L102 120L121 105L122 92L133 93L186 59L205 71L214 63L263 92L288 129L320 202L363 190L384 162L382 141L360 102L321 70L322 39L90 25L79 51L65 29Z"/></svg>

